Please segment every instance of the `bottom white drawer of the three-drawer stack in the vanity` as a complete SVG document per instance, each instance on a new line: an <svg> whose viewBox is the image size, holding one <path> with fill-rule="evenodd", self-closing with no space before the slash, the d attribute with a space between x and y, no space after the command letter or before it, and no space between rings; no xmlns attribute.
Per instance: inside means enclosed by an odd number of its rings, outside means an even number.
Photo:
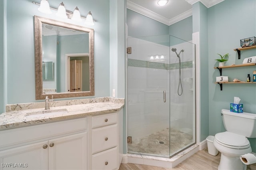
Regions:
<svg viewBox="0 0 256 170"><path fill-rule="evenodd" d="M92 155L92 169L93 170L118 169L117 147Z"/></svg>

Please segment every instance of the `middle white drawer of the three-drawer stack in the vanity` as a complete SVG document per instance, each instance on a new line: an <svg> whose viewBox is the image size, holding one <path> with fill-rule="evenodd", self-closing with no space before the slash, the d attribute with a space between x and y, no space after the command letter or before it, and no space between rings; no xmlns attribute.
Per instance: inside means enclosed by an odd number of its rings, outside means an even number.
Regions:
<svg viewBox="0 0 256 170"><path fill-rule="evenodd" d="M92 154L117 146L118 126L110 125L92 130Z"/></svg>

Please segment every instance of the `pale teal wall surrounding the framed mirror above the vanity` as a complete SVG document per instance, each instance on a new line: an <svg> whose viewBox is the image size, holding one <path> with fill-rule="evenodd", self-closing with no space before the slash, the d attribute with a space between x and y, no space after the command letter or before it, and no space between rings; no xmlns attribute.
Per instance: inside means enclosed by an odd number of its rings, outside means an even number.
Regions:
<svg viewBox="0 0 256 170"><path fill-rule="evenodd" d="M40 0L34 1L40 3ZM94 29L95 42L95 96L93 97L110 96L110 2L108 0L63 0L63 2L68 10L78 6L82 16L86 16L89 10L92 12L96 20L95 25L90 26ZM54 14L40 13L37 10L39 6L32 4L30 0L1 0L0 3L1 23L7 22L1 24L0 30L1 34L6 31L4 35L8 40L2 39L1 36L0 45L4 48L3 53L7 51L6 57L1 57L0 62L4 65L1 67L1 76L6 75L0 87L0 113L2 113L5 111L3 107L6 104L38 102L35 100L34 15L54 20L60 19ZM50 6L58 8L60 2L50 1L49 3ZM7 15L4 15L5 13ZM67 22L72 23L72 21Z"/></svg>

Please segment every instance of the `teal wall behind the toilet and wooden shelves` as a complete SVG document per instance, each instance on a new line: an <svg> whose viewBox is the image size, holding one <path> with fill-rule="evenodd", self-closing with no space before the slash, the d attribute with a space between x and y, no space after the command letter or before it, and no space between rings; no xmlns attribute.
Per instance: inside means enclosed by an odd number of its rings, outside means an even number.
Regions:
<svg viewBox="0 0 256 170"><path fill-rule="evenodd" d="M246 15L245 15L246 11ZM256 113L255 84L224 84L223 90L214 84L215 77L220 73L213 67L218 66L217 53L229 53L226 65L242 64L243 59L256 56L256 49L241 51L241 59L234 51L240 47L240 40L256 36L256 1L255 0L225 0L208 9L208 81L209 83L209 134L214 135L225 131L220 116L221 109L230 109L229 104L234 96L240 97L244 104L244 112ZM222 69L222 75L246 81L247 74L252 77L255 66ZM201 79L202 81L202 79ZM205 125L206 127L206 125ZM249 139L253 152L256 152L256 138Z"/></svg>

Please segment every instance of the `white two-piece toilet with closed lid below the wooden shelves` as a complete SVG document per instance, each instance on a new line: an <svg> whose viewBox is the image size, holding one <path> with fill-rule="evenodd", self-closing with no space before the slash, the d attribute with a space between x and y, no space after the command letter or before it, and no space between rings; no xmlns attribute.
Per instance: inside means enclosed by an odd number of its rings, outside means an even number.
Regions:
<svg viewBox="0 0 256 170"><path fill-rule="evenodd" d="M217 133L213 144L221 152L218 170L246 170L239 156L252 152L247 138L256 138L256 114L222 109L226 132Z"/></svg>

